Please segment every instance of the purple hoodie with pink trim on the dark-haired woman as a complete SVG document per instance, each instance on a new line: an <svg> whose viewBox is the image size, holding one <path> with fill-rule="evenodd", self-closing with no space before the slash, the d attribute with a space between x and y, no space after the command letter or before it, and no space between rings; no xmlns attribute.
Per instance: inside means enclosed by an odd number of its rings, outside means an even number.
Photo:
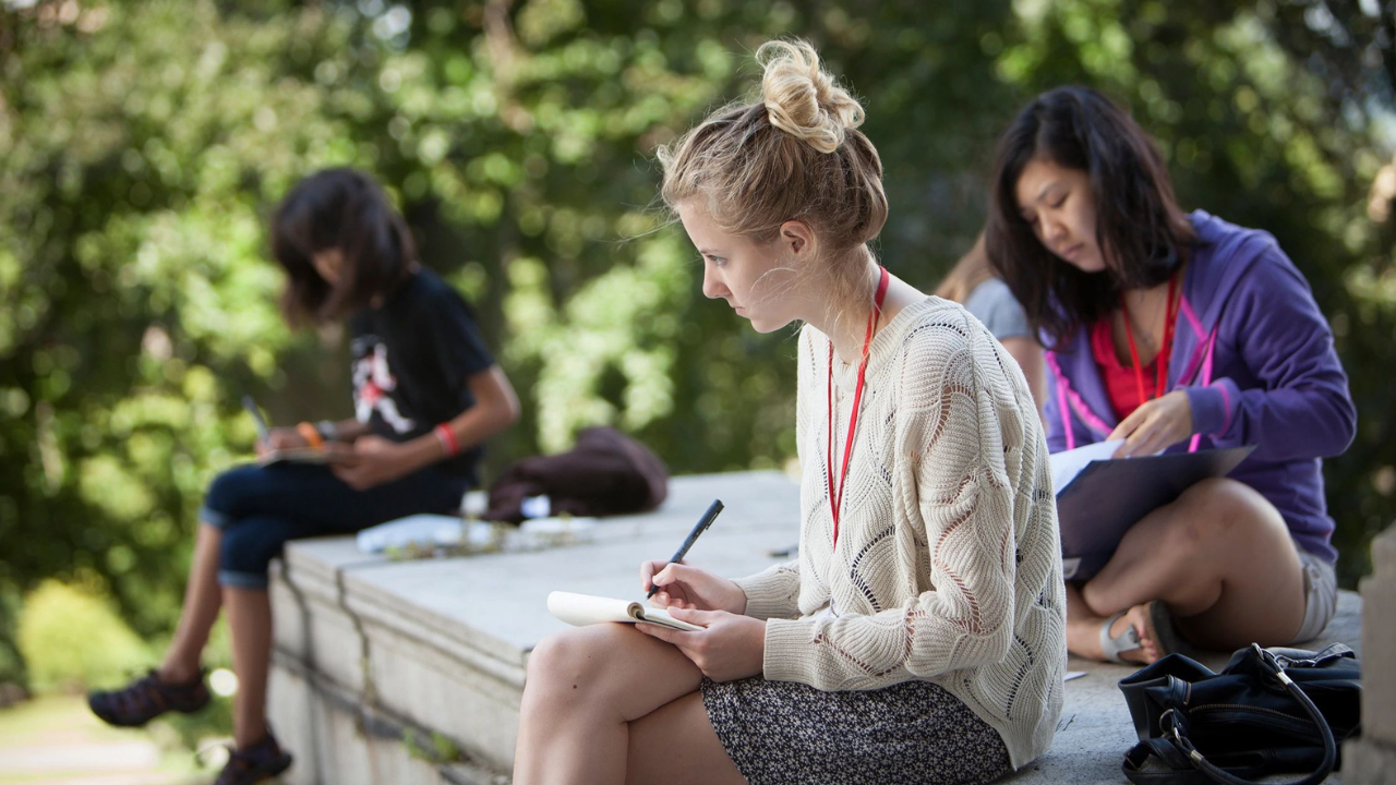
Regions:
<svg viewBox="0 0 1396 785"><path fill-rule="evenodd" d="M1182 284L1167 387L1187 391L1194 437L1167 453L1255 444L1230 476L1275 504L1300 548L1336 562L1322 460L1347 450L1357 409L1333 334L1273 236L1201 210L1191 219L1199 243ZM1104 440L1118 419L1090 331L1076 330L1046 356L1050 451Z"/></svg>

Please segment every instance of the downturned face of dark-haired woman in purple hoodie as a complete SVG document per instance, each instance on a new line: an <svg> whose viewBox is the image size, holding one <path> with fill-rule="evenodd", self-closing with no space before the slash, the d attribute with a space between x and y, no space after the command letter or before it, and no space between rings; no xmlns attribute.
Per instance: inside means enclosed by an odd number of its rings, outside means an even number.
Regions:
<svg viewBox="0 0 1396 785"><path fill-rule="evenodd" d="M1047 250L1082 272L1106 270L1096 242L1096 198L1085 170L1033 158L1013 191L1019 214Z"/></svg>

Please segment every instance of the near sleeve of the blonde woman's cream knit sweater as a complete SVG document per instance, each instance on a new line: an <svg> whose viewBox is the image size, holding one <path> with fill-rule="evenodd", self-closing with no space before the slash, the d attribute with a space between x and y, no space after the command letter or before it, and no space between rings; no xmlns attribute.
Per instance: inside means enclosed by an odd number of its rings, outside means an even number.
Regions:
<svg viewBox="0 0 1396 785"><path fill-rule="evenodd" d="M930 585L888 598L896 606L877 613L769 620L768 679L870 690L1007 656L1013 492L998 423L1002 401L983 380L1000 373L994 351L979 345L987 341L986 332L953 321L934 324L909 342L896 372L898 413L889 426L898 430L898 465L891 471L905 503L889 522L910 527L926 543Z"/></svg>

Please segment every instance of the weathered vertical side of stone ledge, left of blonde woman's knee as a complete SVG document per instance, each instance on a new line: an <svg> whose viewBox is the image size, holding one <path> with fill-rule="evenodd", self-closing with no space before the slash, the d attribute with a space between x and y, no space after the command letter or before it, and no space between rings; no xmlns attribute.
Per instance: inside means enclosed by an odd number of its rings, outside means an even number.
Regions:
<svg viewBox="0 0 1396 785"><path fill-rule="evenodd" d="M356 570L387 568L389 562L339 564L332 580L324 580L331 573L318 567L336 562L343 545L315 543L318 562L292 553L274 577L268 715L296 754L283 779L493 782L511 765L522 652L512 669L487 662L461 651L441 626L384 608L373 591L355 584ZM438 739L459 754L438 754Z"/></svg>

